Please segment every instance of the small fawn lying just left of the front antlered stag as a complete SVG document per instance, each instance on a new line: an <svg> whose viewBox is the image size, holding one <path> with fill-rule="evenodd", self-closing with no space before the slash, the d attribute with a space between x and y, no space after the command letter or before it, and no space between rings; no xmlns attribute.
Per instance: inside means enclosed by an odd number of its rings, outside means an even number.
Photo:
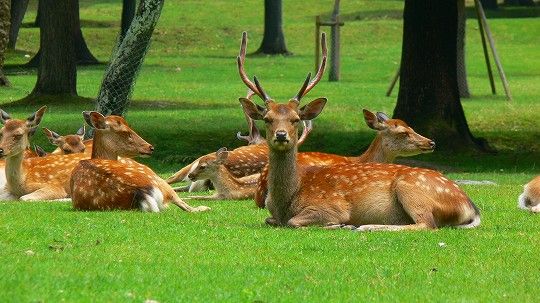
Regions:
<svg viewBox="0 0 540 303"><path fill-rule="evenodd" d="M189 196L199 200L243 200L253 198L259 174L236 178L225 167L229 152L225 147L215 154L200 158L199 164L188 174L191 181L210 180L216 189L212 196Z"/></svg>

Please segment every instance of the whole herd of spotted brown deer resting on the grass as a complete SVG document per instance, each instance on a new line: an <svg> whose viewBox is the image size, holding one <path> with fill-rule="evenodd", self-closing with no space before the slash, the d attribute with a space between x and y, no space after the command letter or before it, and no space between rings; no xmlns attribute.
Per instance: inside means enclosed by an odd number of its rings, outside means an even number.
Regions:
<svg viewBox="0 0 540 303"><path fill-rule="evenodd" d="M238 70L248 87L240 98L250 134L238 138L248 145L228 151L221 148L180 169L166 181L134 160L149 156L154 148L124 118L83 112L93 128L93 139L77 134L60 136L44 128L58 148L50 154L29 149L45 113L40 108L26 120L12 119L0 110L0 199L71 199L77 210L140 209L159 212L168 202L189 212L209 210L191 207L176 191L198 191L213 186L212 196L195 199L254 199L267 208L266 223L301 227L351 228L358 231L435 229L443 226L473 228L480 212L453 181L439 172L392 164L396 157L432 152L435 143L417 134L405 122L384 113L363 111L367 125L377 136L362 155L345 157L320 152L298 152L312 130L312 120L327 103L318 98L301 106L301 99L320 81L326 66L325 35L321 37L322 60L317 74L308 74L299 92L286 103L277 103L254 77L244 70L247 34L243 33ZM257 95L260 106L251 100ZM254 120L266 125L266 140ZM302 135L298 137L300 124ZM190 181L187 187L170 184ZM176 191L175 191L176 190ZM519 207L540 212L540 177L525 186Z"/></svg>

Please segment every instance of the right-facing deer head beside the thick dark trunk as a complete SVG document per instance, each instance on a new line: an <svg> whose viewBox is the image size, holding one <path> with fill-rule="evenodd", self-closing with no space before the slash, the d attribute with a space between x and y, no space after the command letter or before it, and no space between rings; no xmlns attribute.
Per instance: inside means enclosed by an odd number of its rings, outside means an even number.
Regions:
<svg viewBox="0 0 540 303"><path fill-rule="evenodd" d="M376 114L363 110L366 124L381 134L384 149L395 156L414 156L430 153L435 149L435 142L416 133L402 120L390 119L386 114Z"/></svg>

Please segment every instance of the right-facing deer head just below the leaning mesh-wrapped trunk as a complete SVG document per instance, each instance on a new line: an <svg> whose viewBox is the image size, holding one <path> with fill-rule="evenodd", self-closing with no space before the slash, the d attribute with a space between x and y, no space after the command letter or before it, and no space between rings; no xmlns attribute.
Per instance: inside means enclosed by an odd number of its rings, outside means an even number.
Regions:
<svg viewBox="0 0 540 303"><path fill-rule="evenodd" d="M98 112L83 112L83 116L86 123L95 129L94 150L112 150L122 157L150 156L154 151L154 147L120 116L105 117Z"/></svg>

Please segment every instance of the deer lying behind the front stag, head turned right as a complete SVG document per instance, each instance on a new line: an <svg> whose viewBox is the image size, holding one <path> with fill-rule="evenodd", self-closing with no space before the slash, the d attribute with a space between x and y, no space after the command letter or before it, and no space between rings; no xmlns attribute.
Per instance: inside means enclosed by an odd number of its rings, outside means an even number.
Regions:
<svg viewBox="0 0 540 303"><path fill-rule="evenodd" d="M414 156L432 152L435 142L416 133L402 120L390 119L386 114L374 114L363 110L366 124L377 131L377 136L369 148L358 157L346 157L320 152L302 152L298 154L298 165L324 166L343 163L392 163L397 157ZM264 208L268 180L268 165L261 172L255 193L255 204Z"/></svg>

